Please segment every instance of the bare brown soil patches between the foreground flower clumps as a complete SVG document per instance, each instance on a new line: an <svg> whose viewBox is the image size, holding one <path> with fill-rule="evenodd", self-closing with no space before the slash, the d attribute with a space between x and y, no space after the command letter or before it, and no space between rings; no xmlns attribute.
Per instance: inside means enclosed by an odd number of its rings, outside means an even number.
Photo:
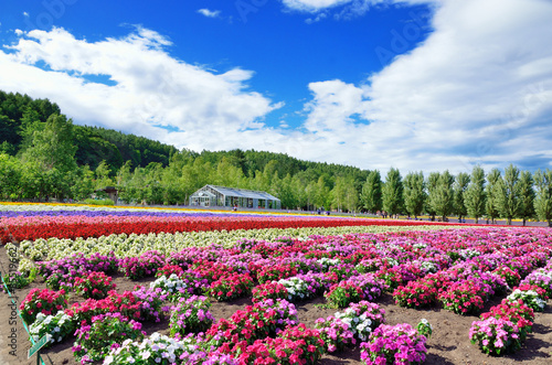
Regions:
<svg viewBox="0 0 552 365"><path fill-rule="evenodd" d="M0 249L0 269L6 272L8 269L8 258L6 250ZM150 280L131 281L121 276L114 277L114 282L117 285L118 292L131 290L135 285L148 285ZM19 303L24 299L26 293L32 289L44 285L35 282L32 286L15 290L15 301ZM74 294L73 294L74 296ZM500 302L502 298L495 298L493 301L487 303L487 308ZM83 298L74 296L71 301L82 301ZM22 321L17 316L17 321L11 319L11 300L6 293L0 293L0 365L34 365L36 358L28 358L28 351L31 343L26 337L26 332L23 329ZM316 308L315 304L323 303L322 298L311 301L297 303L299 321L308 326L314 326L318 318L325 318L333 314L336 310ZM477 345L469 342L468 332L471 322L477 320L476 316L461 316L443 309L414 310L405 309L394 304L390 294L385 294L376 300L376 303L385 310L386 324L410 323L415 326L421 319L425 318L433 325L433 336L427 342L428 353L426 364L450 365L450 364L467 364L467 365L502 365L502 364L531 364L531 365L550 365L552 364L552 300L549 300L546 311L537 313L534 320L533 332L528 336L523 347L513 355L501 357L490 357L482 354ZM240 299L229 303L213 302L211 312L216 319L230 318L238 309L251 304L251 298ZM168 321L161 323L147 323L144 330L151 334L160 332L168 334ZM8 337L12 331L15 331L17 341L13 347L10 345L11 339ZM70 364L76 365L71 347L74 339L66 339L43 352L42 358L46 365ZM15 356L12 355L13 351ZM12 354L10 354L12 352ZM335 354L325 355L320 364L361 364L360 348L353 347L348 351Z"/></svg>

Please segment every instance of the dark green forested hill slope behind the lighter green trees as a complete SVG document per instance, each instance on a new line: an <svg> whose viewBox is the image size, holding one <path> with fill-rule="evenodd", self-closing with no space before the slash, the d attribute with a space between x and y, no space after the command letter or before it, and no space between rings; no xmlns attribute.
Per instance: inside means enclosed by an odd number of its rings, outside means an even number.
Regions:
<svg viewBox="0 0 552 365"><path fill-rule="evenodd" d="M0 151L17 155L22 147L22 125L24 115L30 109L36 111L40 122L45 122L52 114L62 114L60 107L49 99L32 99L28 95L6 93L0 90ZM95 170L105 160L113 171L120 169L126 161L132 168L146 168L151 162L169 164L170 157L178 152L173 146L164 144L145 137L126 135L113 129L88 126L74 126L75 146L77 151L75 160L78 165L89 165ZM276 171L279 176L291 176L305 171L310 171L312 180L322 174L327 175L358 175L365 176L368 171L340 164L309 162L298 160L285 153L263 152L255 150L233 151L202 151L195 153L185 151L193 158L202 157L203 160L216 165L226 158L235 167L242 169L247 178L253 178L255 171L264 171L266 164L276 161Z"/></svg>

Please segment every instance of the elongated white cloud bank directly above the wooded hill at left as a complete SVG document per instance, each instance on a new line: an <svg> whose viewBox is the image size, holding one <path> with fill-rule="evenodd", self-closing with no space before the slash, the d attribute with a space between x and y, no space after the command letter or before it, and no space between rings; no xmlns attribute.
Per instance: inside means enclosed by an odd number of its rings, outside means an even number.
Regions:
<svg viewBox="0 0 552 365"><path fill-rule="evenodd" d="M269 133L261 120L280 104L247 89L253 72L215 74L174 60L164 50L168 45L169 40L141 28L94 43L60 28L31 31L10 53L0 52L0 88L47 97L81 124L102 124L178 147L234 148L246 143L241 130L261 141L265 137L257 135ZM116 85L91 83L87 75L107 76ZM156 126L182 132L172 136Z"/></svg>

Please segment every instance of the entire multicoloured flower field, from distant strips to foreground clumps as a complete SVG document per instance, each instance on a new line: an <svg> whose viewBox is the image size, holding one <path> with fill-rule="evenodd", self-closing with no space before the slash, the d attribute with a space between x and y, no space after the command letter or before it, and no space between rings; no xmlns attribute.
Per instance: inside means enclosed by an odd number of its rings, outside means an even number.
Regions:
<svg viewBox="0 0 552 365"><path fill-rule="evenodd" d="M53 364L552 361L550 229L23 205L0 216L3 280L32 340L51 335ZM25 336L0 363L35 363Z"/></svg>

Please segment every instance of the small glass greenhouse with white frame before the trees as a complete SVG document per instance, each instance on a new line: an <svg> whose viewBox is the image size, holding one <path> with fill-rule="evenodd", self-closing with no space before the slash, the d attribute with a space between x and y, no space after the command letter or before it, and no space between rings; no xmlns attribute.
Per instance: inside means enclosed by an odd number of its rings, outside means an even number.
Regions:
<svg viewBox="0 0 552 365"><path fill-rule="evenodd" d="M205 185L190 196L193 206L238 206L279 210L280 200L266 192Z"/></svg>

